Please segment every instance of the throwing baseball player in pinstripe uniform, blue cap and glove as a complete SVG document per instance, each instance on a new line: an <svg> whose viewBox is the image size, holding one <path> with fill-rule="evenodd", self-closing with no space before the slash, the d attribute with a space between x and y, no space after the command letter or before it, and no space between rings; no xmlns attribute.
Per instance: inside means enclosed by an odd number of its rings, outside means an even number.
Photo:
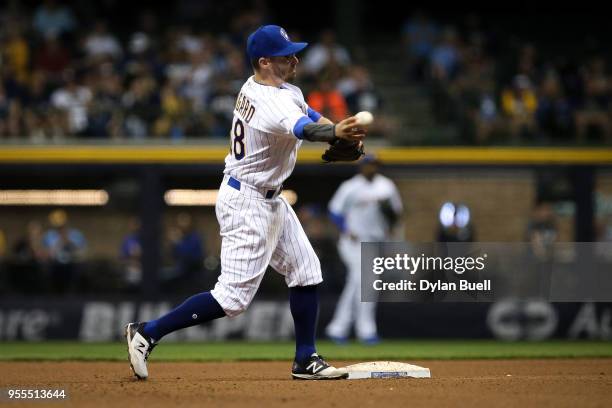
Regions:
<svg viewBox="0 0 612 408"><path fill-rule="evenodd" d="M230 130L230 152L215 206L222 237L221 274L213 290L194 295L157 320L129 323L130 365L139 379L148 377L147 358L160 339L173 331L248 307L268 265L284 275L295 325L294 379L346 378L346 369L328 364L316 352L319 260L298 218L280 196L304 140L328 142L326 160L356 160L363 153L366 129L355 117L337 124L313 111L295 78L294 43L279 26L258 28L247 40L254 75L242 86Z"/></svg>

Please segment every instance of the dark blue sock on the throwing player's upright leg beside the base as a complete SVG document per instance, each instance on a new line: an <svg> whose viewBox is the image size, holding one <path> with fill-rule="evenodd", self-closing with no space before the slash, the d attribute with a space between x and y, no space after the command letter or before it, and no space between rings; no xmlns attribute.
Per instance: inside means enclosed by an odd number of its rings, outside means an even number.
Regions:
<svg viewBox="0 0 612 408"><path fill-rule="evenodd" d="M316 353L315 331L319 314L317 286L289 288L289 307L295 325L295 360L308 360Z"/></svg>

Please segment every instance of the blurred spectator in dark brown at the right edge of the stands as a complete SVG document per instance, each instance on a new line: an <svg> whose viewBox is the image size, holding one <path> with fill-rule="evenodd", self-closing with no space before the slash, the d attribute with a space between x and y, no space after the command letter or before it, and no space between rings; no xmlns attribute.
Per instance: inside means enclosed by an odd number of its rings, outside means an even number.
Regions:
<svg viewBox="0 0 612 408"><path fill-rule="evenodd" d="M610 118L612 82L606 72L602 57L594 57L583 72L584 100L576 112L578 139L586 141L592 131L608 143L612 142L612 121Z"/></svg>

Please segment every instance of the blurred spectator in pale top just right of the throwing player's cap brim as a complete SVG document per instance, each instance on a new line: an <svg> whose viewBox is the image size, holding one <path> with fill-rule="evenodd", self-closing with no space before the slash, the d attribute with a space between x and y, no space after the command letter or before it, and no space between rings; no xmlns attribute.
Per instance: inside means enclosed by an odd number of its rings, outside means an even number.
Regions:
<svg viewBox="0 0 612 408"><path fill-rule="evenodd" d="M323 71L333 75L350 63L349 52L336 41L336 34L332 30L323 30L320 41L306 48L301 68L310 76L317 76Z"/></svg>

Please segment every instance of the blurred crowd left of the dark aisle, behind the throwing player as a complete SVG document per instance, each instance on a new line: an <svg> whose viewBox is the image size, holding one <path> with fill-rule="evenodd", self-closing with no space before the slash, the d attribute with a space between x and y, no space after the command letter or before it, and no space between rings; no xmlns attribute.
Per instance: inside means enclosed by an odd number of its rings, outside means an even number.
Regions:
<svg viewBox="0 0 612 408"><path fill-rule="evenodd" d="M220 34L180 20L162 26L143 11L123 33L101 18L81 21L68 3L47 0L30 14L12 4L1 13L0 139L31 142L225 137L251 72L246 36L265 18L244 10ZM301 57L315 109L334 120L375 110L367 70L333 31Z"/></svg>

